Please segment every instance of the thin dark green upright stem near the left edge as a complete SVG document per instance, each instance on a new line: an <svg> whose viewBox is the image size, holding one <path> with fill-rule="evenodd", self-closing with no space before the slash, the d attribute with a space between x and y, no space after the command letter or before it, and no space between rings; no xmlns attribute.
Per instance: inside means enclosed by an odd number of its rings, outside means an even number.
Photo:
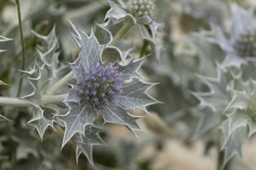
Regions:
<svg viewBox="0 0 256 170"><path fill-rule="evenodd" d="M23 36L23 31L22 31L22 15L20 13L20 0L15 0L15 1L17 4L19 28L20 28L20 38L22 41L22 71L24 71L25 70L25 46L24 46L24 36ZM20 93L22 92L22 80L23 80L23 77L20 79L17 97L19 97Z"/></svg>

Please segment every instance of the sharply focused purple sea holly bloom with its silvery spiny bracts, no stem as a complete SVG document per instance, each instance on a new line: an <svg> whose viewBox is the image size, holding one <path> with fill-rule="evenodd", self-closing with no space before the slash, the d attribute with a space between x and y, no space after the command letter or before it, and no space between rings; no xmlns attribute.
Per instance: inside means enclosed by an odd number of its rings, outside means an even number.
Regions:
<svg viewBox="0 0 256 170"><path fill-rule="evenodd" d="M112 64L102 62L104 46L98 43L94 33L88 36L73 24L71 26L80 52L77 60L70 64L76 83L71 84L64 100L69 111L59 116L65 124L63 146L74 135L90 138L90 132L86 133L86 129L94 124L97 116L102 116L106 123L127 126L132 132L140 130L136 123L140 117L132 116L129 110L147 112L147 105L157 103L146 93L154 84L139 80L142 77L137 71L144 58L130 60L127 65L120 65L118 61ZM82 152L92 161L92 150L77 149L77 157Z"/></svg>

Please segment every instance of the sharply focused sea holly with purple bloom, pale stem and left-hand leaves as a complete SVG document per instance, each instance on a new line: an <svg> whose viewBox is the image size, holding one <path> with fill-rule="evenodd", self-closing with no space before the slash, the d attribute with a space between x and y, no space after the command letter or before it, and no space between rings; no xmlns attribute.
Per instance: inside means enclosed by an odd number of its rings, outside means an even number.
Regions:
<svg viewBox="0 0 256 170"><path fill-rule="evenodd" d="M143 77L138 73L145 57L130 59L125 64L119 60L103 62L102 53L112 40L110 32L103 28L95 31L98 37L103 31L109 34L107 40L100 37L99 42L94 32L88 36L73 24L71 26L72 36L79 47L77 60L69 64L71 72L62 73L55 28L47 36L32 32L39 42L38 58L28 71L22 71L31 93L22 97L23 101L1 97L0 103L32 106L32 119L28 124L36 128L41 139L49 126L54 130L54 124L65 127L62 147L69 140L73 141L77 160L83 153L93 164L92 146L104 144L98 134L101 128L94 124L96 118L101 116L104 123L126 126L136 135L135 132L140 131L136 120L141 116L133 116L129 110L148 112L146 106L158 101L147 93L154 84L141 81ZM75 82L70 84L71 88L63 88L72 77ZM65 105L61 105L62 101Z"/></svg>

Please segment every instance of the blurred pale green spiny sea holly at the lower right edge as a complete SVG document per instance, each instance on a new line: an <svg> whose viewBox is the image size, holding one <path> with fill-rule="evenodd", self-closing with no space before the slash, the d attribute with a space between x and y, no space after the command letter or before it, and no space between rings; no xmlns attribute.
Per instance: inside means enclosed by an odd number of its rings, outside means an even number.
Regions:
<svg viewBox="0 0 256 170"><path fill-rule="evenodd" d="M246 65L255 71L255 64ZM244 80L247 72L242 69L236 73L218 65L218 76L200 79L210 91L193 93L199 99L201 108L210 108L219 115L220 129L224 136L223 165L234 156L242 155L242 144L256 132L255 123L255 80ZM217 125L217 124L216 124Z"/></svg>

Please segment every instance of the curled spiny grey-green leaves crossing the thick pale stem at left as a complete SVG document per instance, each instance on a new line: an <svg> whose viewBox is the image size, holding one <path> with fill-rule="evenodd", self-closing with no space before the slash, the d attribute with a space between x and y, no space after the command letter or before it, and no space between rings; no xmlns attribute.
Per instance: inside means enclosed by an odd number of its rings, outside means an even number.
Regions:
<svg viewBox="0 0 256 170"><path fill-rule="evenodd" d="M28 124L36 128L42 139L47 127L51 126L54 129L54 119L44 117L45 110L42 108L47 108L47 105L42 105L40 98L49 85L53 84L55 81L55 75L57 74L56 69L59 63L59 42L55 34L55 27L48 36L41 36L36 32L33 32L33 34L40 42L40 46L38 45L36 48L40 58L36 60L34 67L30 68L29 71L22 71L28 75L28 82L32 86L32 92L22 97L22 99L34 106L36 111Z"/></svg>

